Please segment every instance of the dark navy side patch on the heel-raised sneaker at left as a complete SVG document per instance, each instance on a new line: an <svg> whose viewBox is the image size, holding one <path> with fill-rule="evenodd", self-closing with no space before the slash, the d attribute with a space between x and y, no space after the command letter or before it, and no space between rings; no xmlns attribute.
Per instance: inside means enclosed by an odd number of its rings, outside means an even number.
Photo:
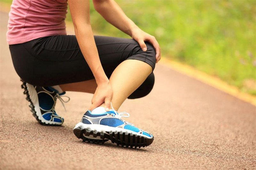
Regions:
<svg viewBox="0 0 256 170"><path fill-rule="evenodd" d="M45 92L38 93L39 106L44 110L51 110L54 104L52 96Z"/></svg>

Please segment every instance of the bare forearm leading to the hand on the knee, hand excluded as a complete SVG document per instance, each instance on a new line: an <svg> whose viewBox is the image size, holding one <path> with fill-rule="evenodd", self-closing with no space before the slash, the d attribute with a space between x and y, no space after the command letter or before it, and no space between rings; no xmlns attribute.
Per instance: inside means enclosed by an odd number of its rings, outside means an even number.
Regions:
<svg viewBox="0 0 256 170"><path fill-rule="evenodd" d="M95 9L106 21L124 33L132 36L132 31L139 28L125 15L124 11L114 0L94 0L93 3Z"/></svg>

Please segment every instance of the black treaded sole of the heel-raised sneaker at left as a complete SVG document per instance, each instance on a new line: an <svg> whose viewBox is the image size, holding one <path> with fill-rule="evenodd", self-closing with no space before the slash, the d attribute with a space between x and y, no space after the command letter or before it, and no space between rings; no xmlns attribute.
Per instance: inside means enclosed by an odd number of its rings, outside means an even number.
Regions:
<svg viewBox="0 0 256 170"><path fill-rule="evenodd" d="M23 81L22 79L20 79L20 81L22 82L21 84L21 88L24 89L23 94L26 95L26 100L30 103L28 106L30 107L30 111L32 112L32 115L36 118L36 120L42 124L42 125L47 125L47 126L61 126L61 124L51 124L51 123L47 123L47 122L42 122L42 120L39 119L39 117L36 115L36 110L35 110L35 105L33 104L30 96L29 96L29 92L28 92L28 87L27 87L27 83L25 81Z"/></svg>

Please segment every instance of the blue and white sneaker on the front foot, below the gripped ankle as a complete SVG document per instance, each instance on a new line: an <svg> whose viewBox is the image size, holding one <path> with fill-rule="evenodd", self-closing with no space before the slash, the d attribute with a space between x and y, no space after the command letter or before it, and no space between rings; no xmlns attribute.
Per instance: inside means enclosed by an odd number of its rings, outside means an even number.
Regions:
<svg viewBox="0 0 256 170"><path fill-rule="evenodd" d="M83 139L84 142L103 144L111 140L122 147L140 148L150 145L154 140L152 134L121 119L129 117L129 113L117 113L113 107L112 110L100 114L92 112L86 111L81 122L76 124L73 130L76 137Z"/></svg>

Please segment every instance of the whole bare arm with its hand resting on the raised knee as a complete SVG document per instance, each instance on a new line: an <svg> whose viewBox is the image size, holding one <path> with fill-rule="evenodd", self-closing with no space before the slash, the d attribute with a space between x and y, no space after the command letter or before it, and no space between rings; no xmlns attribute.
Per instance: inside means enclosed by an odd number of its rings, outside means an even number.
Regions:
<svg viewBox="0 0 256 170"><path fill-rule="evenodd" d="M143 32L135 25L114 0L93 0L93 5L95 10L99 12L106 21L138 41L143 51L147 50L144 41L149 41L156 49L156 62L160 60L161 50L155 37Z"/></svg>

